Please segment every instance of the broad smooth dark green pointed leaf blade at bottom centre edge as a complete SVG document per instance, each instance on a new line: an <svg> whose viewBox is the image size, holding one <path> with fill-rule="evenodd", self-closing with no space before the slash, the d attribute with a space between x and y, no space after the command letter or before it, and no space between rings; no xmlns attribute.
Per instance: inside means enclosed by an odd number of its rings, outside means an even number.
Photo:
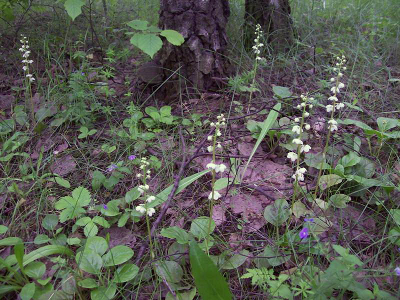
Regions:
<svg viewBox="0 0 400 300"><path fill-rule="evenodd" d="M226 280L194 240L190 241L189 258L194 282L204 300L232 299Z"/></svg>

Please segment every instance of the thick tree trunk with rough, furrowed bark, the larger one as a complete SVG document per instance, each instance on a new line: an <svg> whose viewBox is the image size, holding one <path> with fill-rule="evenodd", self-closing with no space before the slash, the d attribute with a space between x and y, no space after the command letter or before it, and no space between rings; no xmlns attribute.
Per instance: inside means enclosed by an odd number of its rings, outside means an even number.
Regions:
<svg viewBox="0 0 400 300"><path fill-rule="evenodd" d="M228 16L228 0L160 0L159 27L179 31L185 39L181 46L164 42L157 57L164 79L176 72L165 84L166 97L216 88L212 77L229 75L223 56Z"/></svg>

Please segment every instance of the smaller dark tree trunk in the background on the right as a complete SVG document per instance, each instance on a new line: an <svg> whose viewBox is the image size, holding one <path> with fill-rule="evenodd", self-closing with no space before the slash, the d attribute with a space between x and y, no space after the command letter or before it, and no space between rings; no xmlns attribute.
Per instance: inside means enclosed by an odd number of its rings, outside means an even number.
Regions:
<svg viewBox="0 0 400 300"><path fill-rule="evenodd" d="M253 45L254 28L258 23L264 37L275 50L285 50L292 42L292 20L289 0L246 0L244 21L245 45Z"/></svg>

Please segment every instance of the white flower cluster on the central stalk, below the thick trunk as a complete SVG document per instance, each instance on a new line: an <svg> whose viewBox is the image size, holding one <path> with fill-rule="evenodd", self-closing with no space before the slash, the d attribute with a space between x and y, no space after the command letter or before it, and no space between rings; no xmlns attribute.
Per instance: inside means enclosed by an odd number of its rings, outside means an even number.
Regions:
<svg viewBox="0 0 400 300"><path fill-rule="evenodd" d="M215 163L215 151L216 151L216 149L222 148L220 142L217 141L217 138L219 136L221 136L221 134L222 134L220 128L225 126L226 119L223 114L218 115L216 117L216 119L217 119L217 121L215 123L214 122L210 123L211 127L215 127L214 135L207 136L207 140L212 141L212 145L209 145L207 147L208 152L212 153L212 160L209 163L207 163L207 165L205 166L207 169L212 169L213 177L215 177L216 173L218 173L218 172L223 173L226 169L226 165L224 165L223 163L219 163L219 164ZM221 195L219 194L219 192L214 190L213 188L212 188L210 194L208 195L208 199L213 198L214 200L216 200L216 199L219 199L220 197L221 197Z"/></svg>

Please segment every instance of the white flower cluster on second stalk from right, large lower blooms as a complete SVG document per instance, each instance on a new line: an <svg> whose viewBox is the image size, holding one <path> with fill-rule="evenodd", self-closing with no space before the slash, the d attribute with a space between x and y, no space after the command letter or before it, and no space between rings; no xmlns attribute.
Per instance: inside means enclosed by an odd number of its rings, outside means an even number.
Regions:
<svg viewBox="0 0 400 300"><path fill-rule="evenodd" d="M292 139L292 143L296 144L297 148L296 152L294 151L288 152L286 156L292 162L294 161L297 162L296 170L294 174L291 176L295 181L303 181L304 173L307 171L305 167L300 167L299 155L302 152L306 153L311 149L311 146L305 144L301 138L302 138L302 132L304 130L309 130L311 127L308 123L304 121L304 119L309 116L307 108L309 109L312 108L312 104L310 104L309 102L313 101L314 98L300 95L300 99L301 103L297 105L297 109L301 110L301 117L294 118L293 127L291 128L291 131L297 135Z"/></svg>

